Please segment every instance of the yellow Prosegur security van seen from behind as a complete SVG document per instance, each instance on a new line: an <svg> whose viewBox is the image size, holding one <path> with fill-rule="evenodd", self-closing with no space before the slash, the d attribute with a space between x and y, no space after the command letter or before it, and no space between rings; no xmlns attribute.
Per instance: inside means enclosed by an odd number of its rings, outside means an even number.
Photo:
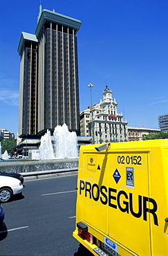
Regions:
<svg viewBox="0 0 168 256"><path fill-rule="evenodd" d="M73 237L93 255L168 255L168 140L80 148Z"/></svg>

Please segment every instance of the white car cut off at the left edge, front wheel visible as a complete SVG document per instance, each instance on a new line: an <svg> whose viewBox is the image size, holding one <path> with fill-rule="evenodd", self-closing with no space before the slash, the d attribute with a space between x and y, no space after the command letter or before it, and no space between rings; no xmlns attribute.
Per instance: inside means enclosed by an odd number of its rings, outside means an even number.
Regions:
<svg viewBox="0 0 168 256"><path fill-rule="evenodd" d="M8 202L14 194L21 194L23 188L19 179L0 176L0 203Z"/></svg>

